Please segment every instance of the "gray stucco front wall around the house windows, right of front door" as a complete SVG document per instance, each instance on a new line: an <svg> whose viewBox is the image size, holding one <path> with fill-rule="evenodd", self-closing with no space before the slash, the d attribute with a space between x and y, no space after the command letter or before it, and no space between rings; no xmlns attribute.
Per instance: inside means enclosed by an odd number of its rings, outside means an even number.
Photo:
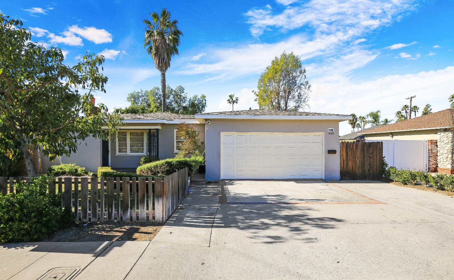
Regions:
<svg viewBox="0 0 454 280"><path fill-rule="evenodd" d="M153 124L155 126L156 124ZM177 153L174 152L174 131L177 128L178 124L159 124L161 129L159 130L159 158L166 159L175 157ZM143 126L143 129L148 129L147 125ZM205 125L196 124L197 130L200 133L201 141L205 141ZM154 129L154 128L153 128ZM126 129L125 129L126 130ZM140 130L140 129L129 129ZM112 135L110 138L110 166L112 168L137 168L140 159L144 155L117 155L116 154L116 139L115 135Z"/></svg>

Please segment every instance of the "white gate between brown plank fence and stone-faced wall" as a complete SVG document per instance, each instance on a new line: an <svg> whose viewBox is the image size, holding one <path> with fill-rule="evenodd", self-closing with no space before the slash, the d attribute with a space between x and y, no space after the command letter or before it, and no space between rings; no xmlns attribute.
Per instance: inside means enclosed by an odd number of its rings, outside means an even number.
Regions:
<svg viewBox="0 0 454 280"><path fill-rule="evenodd" d="M383 156L390 166L429 171L427 140L366 140L366 142L383 142Z"/></svg>

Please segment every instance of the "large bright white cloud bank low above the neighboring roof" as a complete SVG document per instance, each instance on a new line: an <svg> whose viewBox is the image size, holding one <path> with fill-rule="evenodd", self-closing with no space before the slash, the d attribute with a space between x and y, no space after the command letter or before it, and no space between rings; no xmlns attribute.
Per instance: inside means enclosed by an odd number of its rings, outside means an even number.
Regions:
<svg viewBox="0 0 454 280"><path fill-rule="evenodd" d="M395 119L395 112L408 101L405 98L411 94L416 95L413 100L415 105L423 108L429 103L435 112L449 107L447 98L452 94L451 88L454 88L453 76L454 67L447 67L417 74L389 75L359 83L349 79L338 79L331 83L314 80L309 104L313 112L356 113L364 116L370 111L381 110L382 119ZM437 98L434 98L434 92ZM350 132L348 123L342 122L341 135Z"/></svg>

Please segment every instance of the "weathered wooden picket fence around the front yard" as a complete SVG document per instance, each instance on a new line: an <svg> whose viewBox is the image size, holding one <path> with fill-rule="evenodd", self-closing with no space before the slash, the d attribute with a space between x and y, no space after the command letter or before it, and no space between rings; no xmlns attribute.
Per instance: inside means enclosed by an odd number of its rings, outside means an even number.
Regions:
<svg viewBox="0 0 454 280"><path fill-rule="evenodd" d="M29 177L0 177L0 193L17 191L14 184ZM59 194L62 207L75 222L154 221L162 223L186 196L188 168L165 177L57 177L50 194Z"/></svg>

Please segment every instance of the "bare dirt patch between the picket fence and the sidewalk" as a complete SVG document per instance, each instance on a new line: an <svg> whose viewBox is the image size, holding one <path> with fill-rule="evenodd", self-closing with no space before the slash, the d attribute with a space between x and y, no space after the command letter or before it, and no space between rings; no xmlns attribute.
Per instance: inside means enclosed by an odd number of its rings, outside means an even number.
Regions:
<svg viewBox="0 0 454 280"><path fill-rule="evenodd" d="M84 241L151 241L163 225L145 222L137 223L88 223L70 226L55 232L44 242L84 242Z"/></svg>

